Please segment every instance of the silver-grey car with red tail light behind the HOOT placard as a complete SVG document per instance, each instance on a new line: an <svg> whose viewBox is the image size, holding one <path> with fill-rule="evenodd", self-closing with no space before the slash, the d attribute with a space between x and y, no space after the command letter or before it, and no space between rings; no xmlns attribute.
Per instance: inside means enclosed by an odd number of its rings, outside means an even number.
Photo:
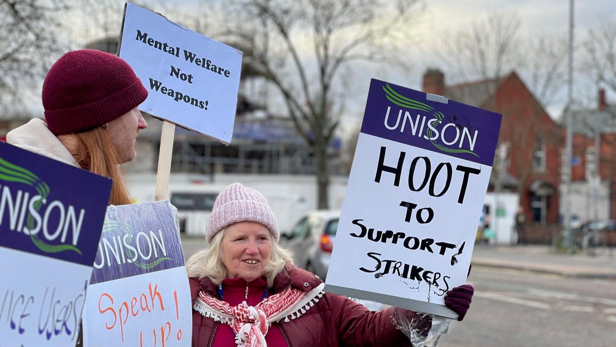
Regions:
<svg viewBox="0 0 616 347"><path fill-rule="evenodd" d="M293 252L293 262L325 279L339 219L340 211L319 210L303 215L283 236L282 244Z"/></svg>

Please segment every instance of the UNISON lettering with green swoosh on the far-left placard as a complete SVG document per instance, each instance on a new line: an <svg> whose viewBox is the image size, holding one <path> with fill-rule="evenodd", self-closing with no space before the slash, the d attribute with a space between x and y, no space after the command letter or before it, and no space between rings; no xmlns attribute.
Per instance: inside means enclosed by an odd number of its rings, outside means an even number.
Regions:
<svg viewBox="0 0 616 347"><path fill-rule="evenodd" d="M76 246L86 211L48 201L50 193L37 175L0 157L0 226L8 222L10 231L30 236L44 253L81 254Z"/></svg>

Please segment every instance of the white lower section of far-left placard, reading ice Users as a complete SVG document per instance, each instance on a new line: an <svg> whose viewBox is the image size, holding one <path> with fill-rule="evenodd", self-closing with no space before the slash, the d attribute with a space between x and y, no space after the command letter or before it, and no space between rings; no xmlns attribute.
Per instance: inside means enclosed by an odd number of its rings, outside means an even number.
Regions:
<svg viewBox="0 0 616 347"><path fill-rule="evenodd" d="M0 281L0 347L75 346L92 267L2 247L0 264L24 279Z"/></svg>

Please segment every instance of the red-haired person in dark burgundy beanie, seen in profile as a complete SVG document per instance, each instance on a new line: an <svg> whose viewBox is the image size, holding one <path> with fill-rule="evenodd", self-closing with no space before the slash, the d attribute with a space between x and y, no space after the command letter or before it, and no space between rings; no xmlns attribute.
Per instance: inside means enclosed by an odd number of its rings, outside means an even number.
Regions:
<svg viewBox="0 0 616 347"><path fill-rule="evenodd" d="M148 96L131 66L94 49L64 54L43 83L45 120L7 134L7 142L113 179L110 204L129 204L119 164L136 156L137 106Z"/></svg>

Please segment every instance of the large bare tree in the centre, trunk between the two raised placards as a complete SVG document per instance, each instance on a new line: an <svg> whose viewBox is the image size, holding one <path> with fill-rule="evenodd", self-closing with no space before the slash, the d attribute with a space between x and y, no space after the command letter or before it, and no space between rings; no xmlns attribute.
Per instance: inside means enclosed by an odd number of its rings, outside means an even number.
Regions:
<svg viewBox="0 0 616 347"><path fill-rule="evenodd" d="M328 207L328 144L344 102L341 77L352 62L404 65L399 54L419 10L415 0L237 0L224 37L244 51L242 75L280 95L312 149L318 207Z"/></svg>

